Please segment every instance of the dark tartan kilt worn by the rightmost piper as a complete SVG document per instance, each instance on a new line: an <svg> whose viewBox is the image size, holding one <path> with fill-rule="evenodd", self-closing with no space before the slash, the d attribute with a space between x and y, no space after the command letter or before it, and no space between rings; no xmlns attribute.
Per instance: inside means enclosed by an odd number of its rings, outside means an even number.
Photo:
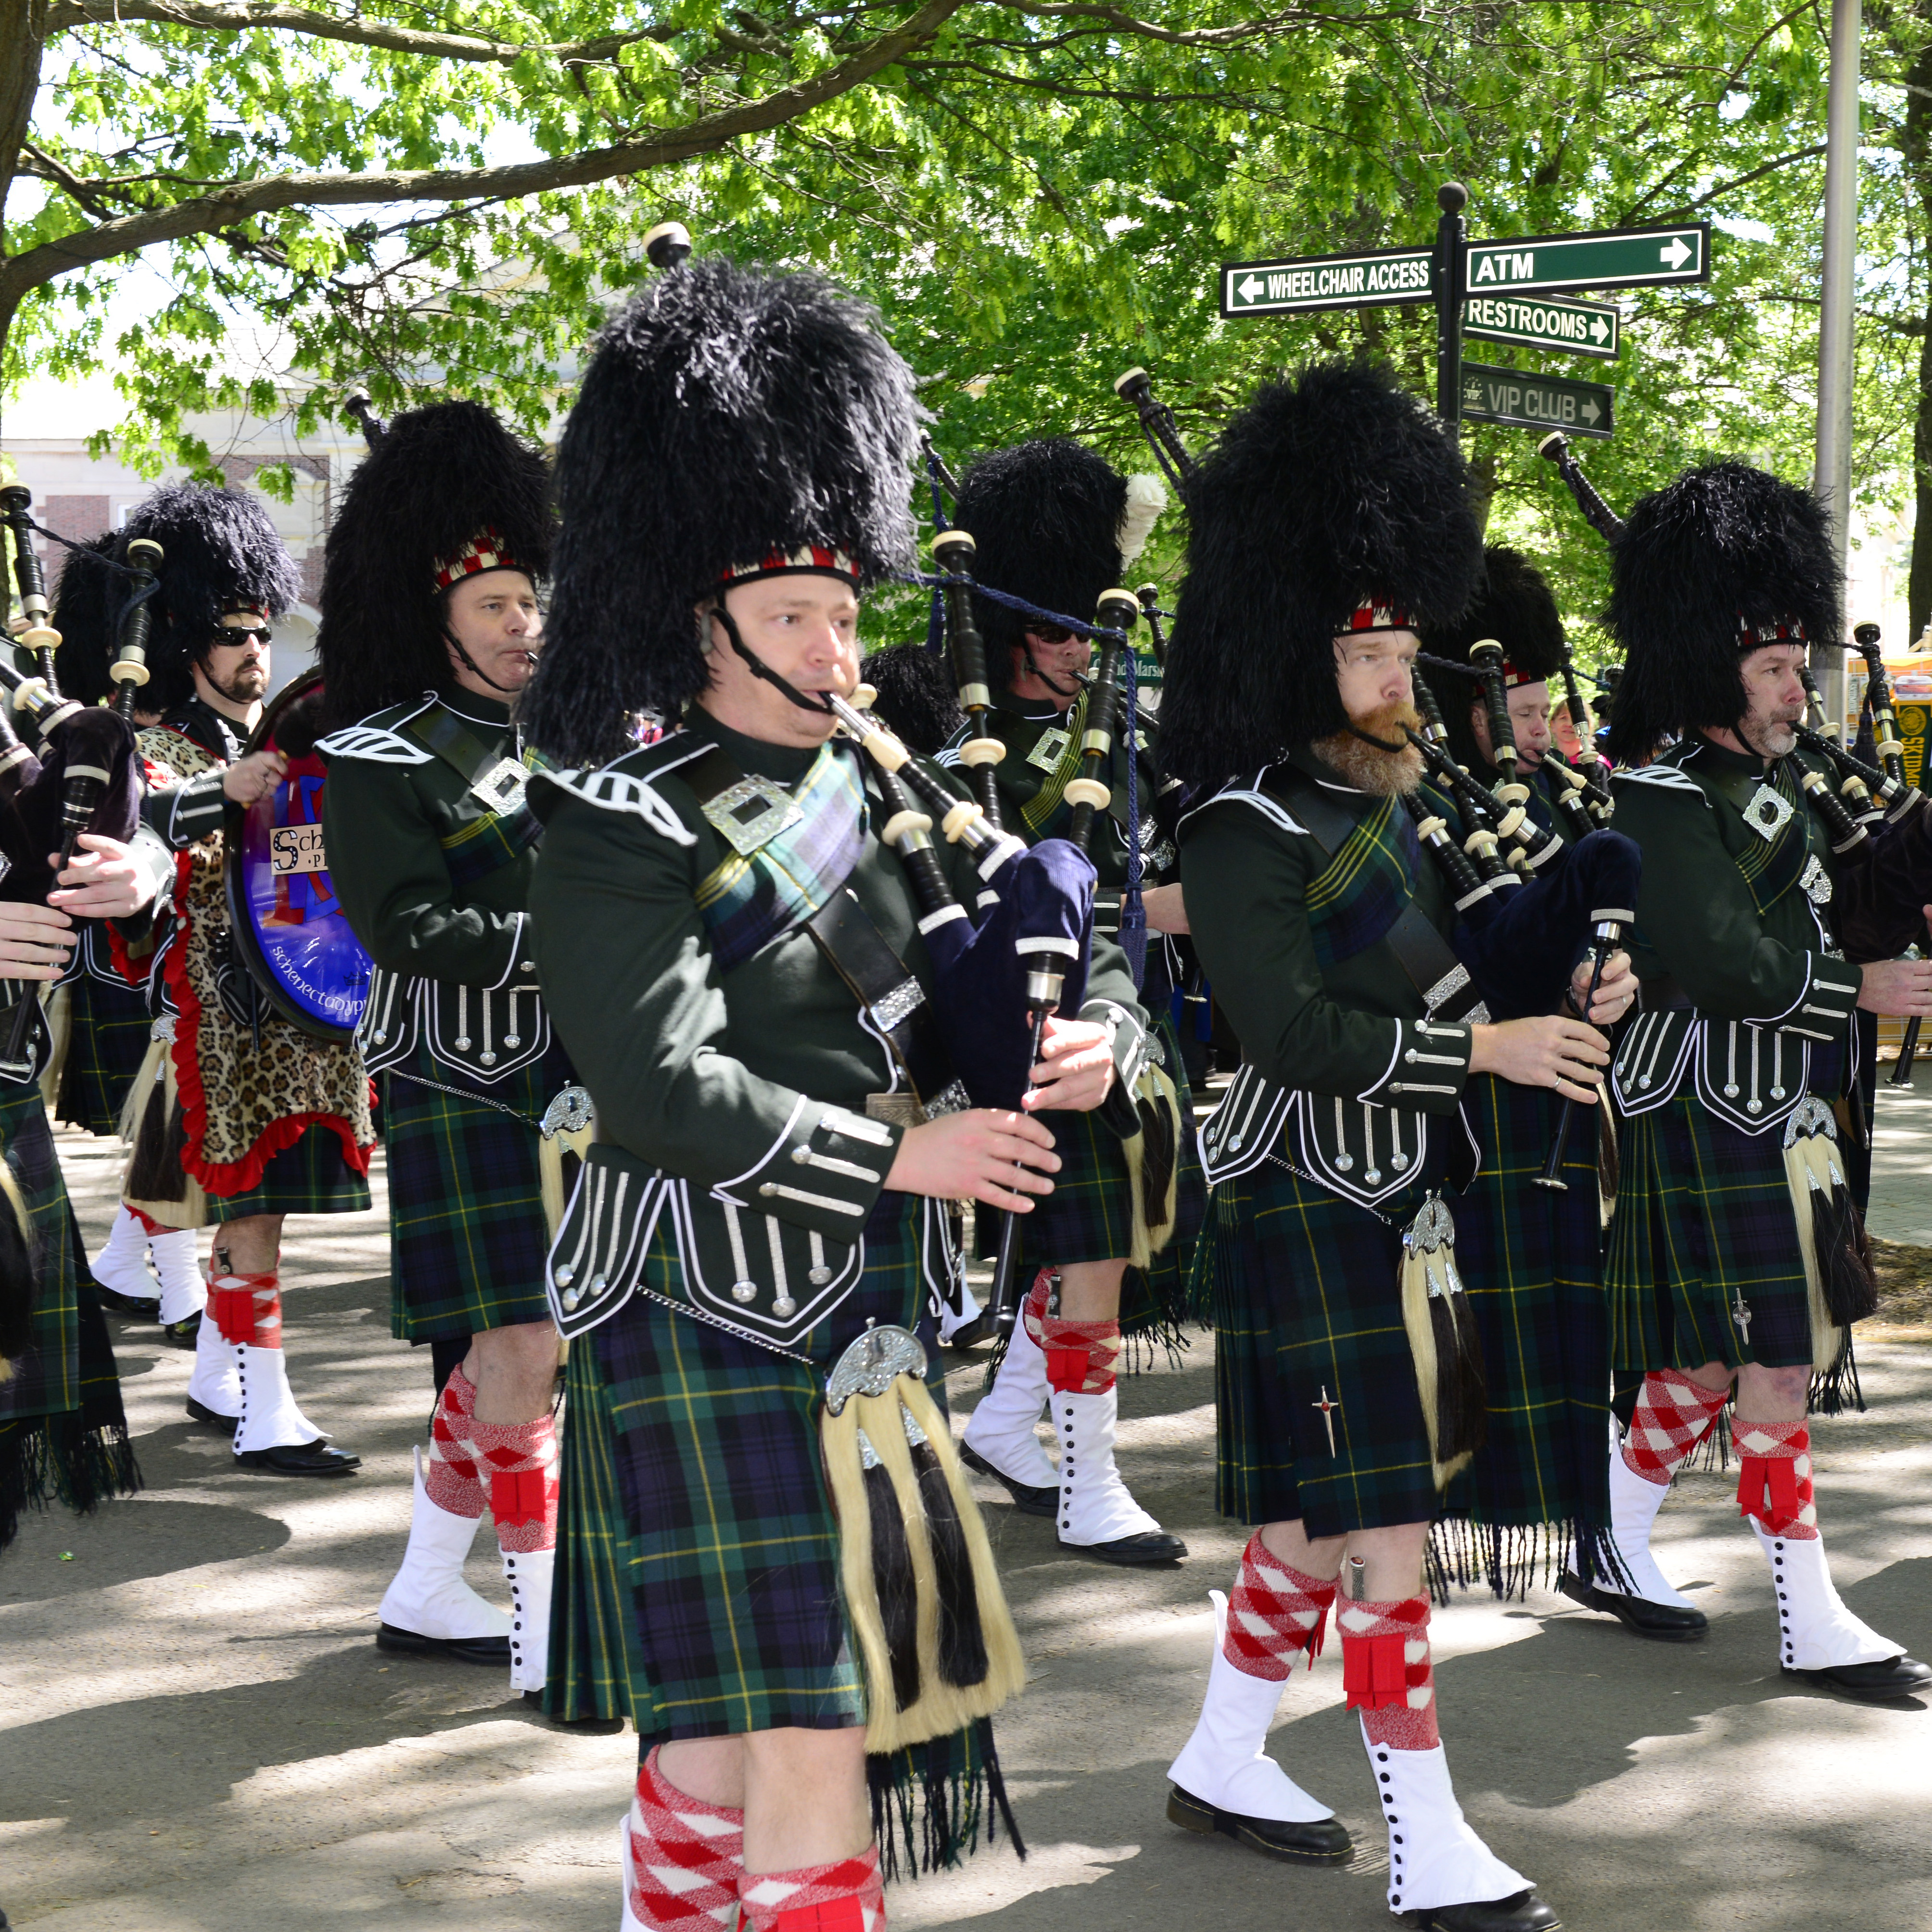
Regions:
<svg viewBox="0 0 1932 1932"><path fill-rule="evenodd" d="M1808 1368L1810 1289L1785 1182L1783 1132L1741 1134L1689 1082L1617 1121L1621 1177L1604 1287L1611 1362ZM1731 1318L1750 1310L1750 1345Z"/></svg>

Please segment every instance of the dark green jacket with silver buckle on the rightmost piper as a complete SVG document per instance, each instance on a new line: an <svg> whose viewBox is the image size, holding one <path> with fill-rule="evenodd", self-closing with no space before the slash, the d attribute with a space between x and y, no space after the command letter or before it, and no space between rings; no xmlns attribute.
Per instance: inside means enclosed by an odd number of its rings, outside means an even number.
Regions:
<svg viewBox="0 0 1932 1932"><path fill-rule="evenodd" d="M1768 775L1702 736L1615 775L1617 831L1644 854L1631 943L1644 1012L1611 1080L1625 1113L1689 1078L1719 1119L1760 1134L1843 1080L1843 1053L1816 1049L1845 1045L1862 976L1837 951L1837 862L1793 763L1830 777L1810 752Z"/></svg>

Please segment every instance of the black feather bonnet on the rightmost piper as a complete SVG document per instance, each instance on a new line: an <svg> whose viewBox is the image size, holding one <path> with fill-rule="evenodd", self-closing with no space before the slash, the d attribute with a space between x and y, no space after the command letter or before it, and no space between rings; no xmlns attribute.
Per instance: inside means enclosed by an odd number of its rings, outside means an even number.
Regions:
<svg viewBox="0 0 1932 1932"><path fill-rule="evenodd" d="M1841 641L1824 504L1750 464L1700 464L1638 498L1609 553L1609 585L1619 763L1700 724L1735 724L1747 707L1739 661L1758 645Z"/></svg>

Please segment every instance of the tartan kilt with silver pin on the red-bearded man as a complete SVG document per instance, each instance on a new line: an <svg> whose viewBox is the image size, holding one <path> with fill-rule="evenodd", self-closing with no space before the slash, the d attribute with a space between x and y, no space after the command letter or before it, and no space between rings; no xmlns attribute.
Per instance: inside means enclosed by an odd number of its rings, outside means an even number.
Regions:
<svg viewBox="0 0 1932 1932"><path fill-rule="evenodd" d="M1273 1159L1215 1186L1202 1267L1221 1515L1300 1517L1318 1538L1435 1515L1401 1296L1401 1229L1426 1192L1422 1180L1403 1188L1383 1219Z"/></svg>

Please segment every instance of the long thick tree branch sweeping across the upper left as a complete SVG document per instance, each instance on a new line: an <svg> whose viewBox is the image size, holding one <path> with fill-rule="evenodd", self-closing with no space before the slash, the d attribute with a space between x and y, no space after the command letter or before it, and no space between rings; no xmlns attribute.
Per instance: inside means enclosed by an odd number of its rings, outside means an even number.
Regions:
<svg viewBox="0 0 1932 1932"><path fill-rule="evenodd" d="M93 4L93 0L70 0L70 4ZM126 6L128 0L104 0L104 4ZM697 155L715 153L740 135L781 128L788 120L850 93L931 39L962 4L964 0L925 0L904 25L879 35L869 46L808 81L781 87L759 100L744 100L713 114L701 114L684 128L667 128L641 141L620 141L616 147L589 149L582 155L520 160L497 168L278 174L259 182L238 182L193 201L176 201L164 209L100 222L97 228L43 242L0 265L0 317L12 313L29 290L71 274L75 269L131 255L156 242L185 242L189 236L220 234L238 222L270 214L276 209L354 207L377 201L471 201L477 197L506 201L558 187L583 187L587 182L609 182L614 176L645 174L651 168L692 160Z"/></svg>

